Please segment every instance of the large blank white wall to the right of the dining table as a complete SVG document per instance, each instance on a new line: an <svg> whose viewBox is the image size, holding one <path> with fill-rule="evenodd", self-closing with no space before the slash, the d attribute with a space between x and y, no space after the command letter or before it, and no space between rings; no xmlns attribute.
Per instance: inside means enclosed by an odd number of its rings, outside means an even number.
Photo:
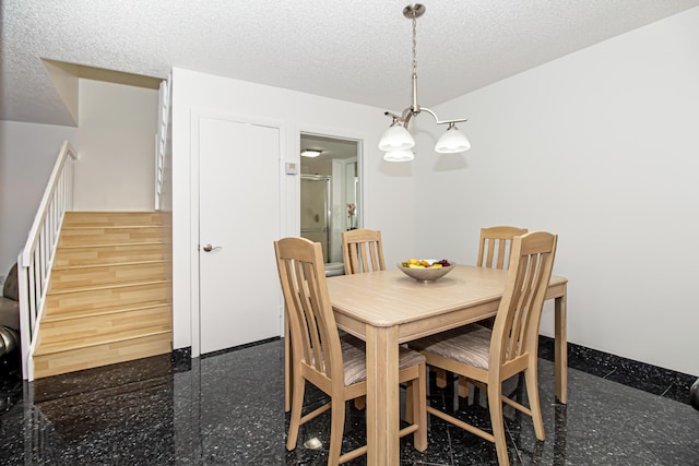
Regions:
<svg viewBox="0 0 699 466"><path fill-rule="evenodd" d="M473 148L418 140L418 244L473 263L481 227L557 232L569 340L699 374L699 8L436 110Z"/></svg>

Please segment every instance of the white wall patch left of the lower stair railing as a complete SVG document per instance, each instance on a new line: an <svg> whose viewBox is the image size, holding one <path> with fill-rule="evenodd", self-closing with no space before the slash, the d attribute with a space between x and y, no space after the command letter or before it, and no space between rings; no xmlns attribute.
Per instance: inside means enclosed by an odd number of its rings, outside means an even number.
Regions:
<svg viewBox="0 0 699 466"><path fill-rule="evenodd" d="M75 131L0 121L0 275L10 272L24 248L61 144Z"/></svg>

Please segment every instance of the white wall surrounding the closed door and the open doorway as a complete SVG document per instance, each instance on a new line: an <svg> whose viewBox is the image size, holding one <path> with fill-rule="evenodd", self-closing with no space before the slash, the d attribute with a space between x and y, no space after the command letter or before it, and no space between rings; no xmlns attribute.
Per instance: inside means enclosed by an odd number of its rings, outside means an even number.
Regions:
<svg viewBox="0 0 699 466"><path fill-rule="evenodd" d="M190 193L190 113L225 112L253 119L274 120L284 128L281 164L299 163L300 132L363 139L364 166L362 181L366 186L364 225L386 231L386 255L396 261L413 247L415 206L410 192L413 178L410 167L382 160L378 139L390 120L383 109L367 107L283 88L235 81L220 76L175 69L173 72L173 259L174 259L174 346L192 345L198 303L196 206ZM246 183L250 191L264 189L245 172L230 175L235 182ZM298 176L283 178L282 235L298 235ZM274 215L274 213L270 213ZM241 219L245 222L246 219ZM270 254L273 247L270 244ZM281 302L280 302L281 304ZM194 348L193 348L194 349Z"/></svg>

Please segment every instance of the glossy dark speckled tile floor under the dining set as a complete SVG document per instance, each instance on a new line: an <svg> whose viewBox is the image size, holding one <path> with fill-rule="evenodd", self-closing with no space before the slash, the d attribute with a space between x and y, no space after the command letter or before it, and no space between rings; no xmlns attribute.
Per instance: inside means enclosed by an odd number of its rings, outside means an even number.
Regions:
<svg viewBox="0 0 699 466"><path fill-rule="evenodd" d="M1 465L322 465L328 414L284 449L283 343L268 342L173 368L156 357L22 383L16 363L0 373ZM580 363L580 361L578 361ZM540 360L546 441L531 420L506 409L510 459L523 465L699 465L699 411L578 369L569 403L553 397L553 363ZM594 368L593 368L594 369ZM615 371L606 371L607 374ZM507 390L519 393L519 380ZM672 382L667 383L668 387ZM473 393L457 414L488 425L485 399ZM322 395L307 391L309 405ZM452 404L431 387L430 403ZM350 408L347 447L364 442L363 411ZM319 450L304 447L312 438ZM403 440L404 465L495 465L493 444L430 418L429 447ZM365 464L359 458L351 464Z"/></svg>

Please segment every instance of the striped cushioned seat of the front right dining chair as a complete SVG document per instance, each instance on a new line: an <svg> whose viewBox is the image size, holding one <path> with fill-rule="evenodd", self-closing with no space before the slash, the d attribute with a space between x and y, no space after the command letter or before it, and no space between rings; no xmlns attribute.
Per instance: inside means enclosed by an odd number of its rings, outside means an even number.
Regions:
<svg viewBox="0 0 699 466"><path fill-rule="evenodd" d="M471 324L411 342L410 347L487 371L491 335L490 328Z"/></svg>

